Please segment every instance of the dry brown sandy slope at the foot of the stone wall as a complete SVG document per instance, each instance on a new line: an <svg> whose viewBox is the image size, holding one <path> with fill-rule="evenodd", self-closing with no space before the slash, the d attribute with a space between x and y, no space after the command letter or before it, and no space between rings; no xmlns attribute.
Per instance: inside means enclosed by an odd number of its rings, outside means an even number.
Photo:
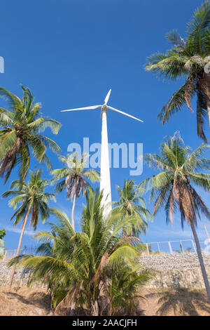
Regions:
<svg viewBox="0 0 210 330"><path fill-rule="evenodd" d="M141 289L139 293L144 296L137 306L137 310L141 311L139 315L210 315L204 289ZM8 288L1 287L0 315L53 315L50 311L50 297L45 289L22 287L13 288L9 292Z"/></svg>

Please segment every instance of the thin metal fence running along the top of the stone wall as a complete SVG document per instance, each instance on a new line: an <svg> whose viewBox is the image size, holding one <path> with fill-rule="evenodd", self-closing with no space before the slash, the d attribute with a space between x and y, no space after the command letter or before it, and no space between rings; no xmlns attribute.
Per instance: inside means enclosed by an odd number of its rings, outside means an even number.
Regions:
<svg viewBox="0 0 210 330"><path fill-rule="evenodd" d="M202 251L210 252L210 240L200 242ZM176 254L176 253L192 253L196 252L196 246L193 239L179 239L176 241L165 242L146 242L141 244L141 251L146 256L154 256L158 254ZM0 250L0 259L8 260L14 258L17 249ZM36 248L24 248L20 250L20 254L36 255Z"/></svg>

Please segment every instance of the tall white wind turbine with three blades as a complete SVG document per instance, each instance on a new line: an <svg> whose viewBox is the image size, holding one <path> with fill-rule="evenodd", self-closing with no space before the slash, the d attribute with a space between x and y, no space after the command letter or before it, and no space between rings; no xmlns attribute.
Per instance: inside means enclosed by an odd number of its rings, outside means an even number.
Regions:
<svg viewBox="0 0 210 330"><path fill-rule="evenodd" d="M92 105L90 107L77 107L76 109L62 110L66 111L76 111L76 110L93 110L99 107L102 108L102 148L101 148L101 175L100 175L100 191L103 190L102 205L104 205L104 216L108 216L111 211L111 182L110 182L110 170L109 170L109 144L108 144L108 134L107 134L107 108L119 112L120 114L125 114L127 117L131 117L138 121L143 122L141 119L126 114L123 111L117 110L114 107L107 105L109 101L109 96L111 89L109 90L103 105Z"/></svg>

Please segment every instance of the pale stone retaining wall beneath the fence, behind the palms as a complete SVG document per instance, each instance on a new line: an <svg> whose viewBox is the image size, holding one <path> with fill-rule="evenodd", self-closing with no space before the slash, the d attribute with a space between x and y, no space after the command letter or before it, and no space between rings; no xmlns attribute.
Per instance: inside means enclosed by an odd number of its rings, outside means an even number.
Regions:
<svg viewBox="0 0 210 330"><path fill-rule="evenodd" d="M203 258L210 279L210 253L204 252ZM6 264L6 261L0 262L0 286L7 286L10 279L11 268L8 268ZM199 260L195 252L141 256L139 264L143 266L143 269L154 270L154 277L147 284L148 287L204 287ZM27 286L29 275L28 270L17 268L13 285ZM37 282L34 287L45 288L45 283Z"/></svg>

